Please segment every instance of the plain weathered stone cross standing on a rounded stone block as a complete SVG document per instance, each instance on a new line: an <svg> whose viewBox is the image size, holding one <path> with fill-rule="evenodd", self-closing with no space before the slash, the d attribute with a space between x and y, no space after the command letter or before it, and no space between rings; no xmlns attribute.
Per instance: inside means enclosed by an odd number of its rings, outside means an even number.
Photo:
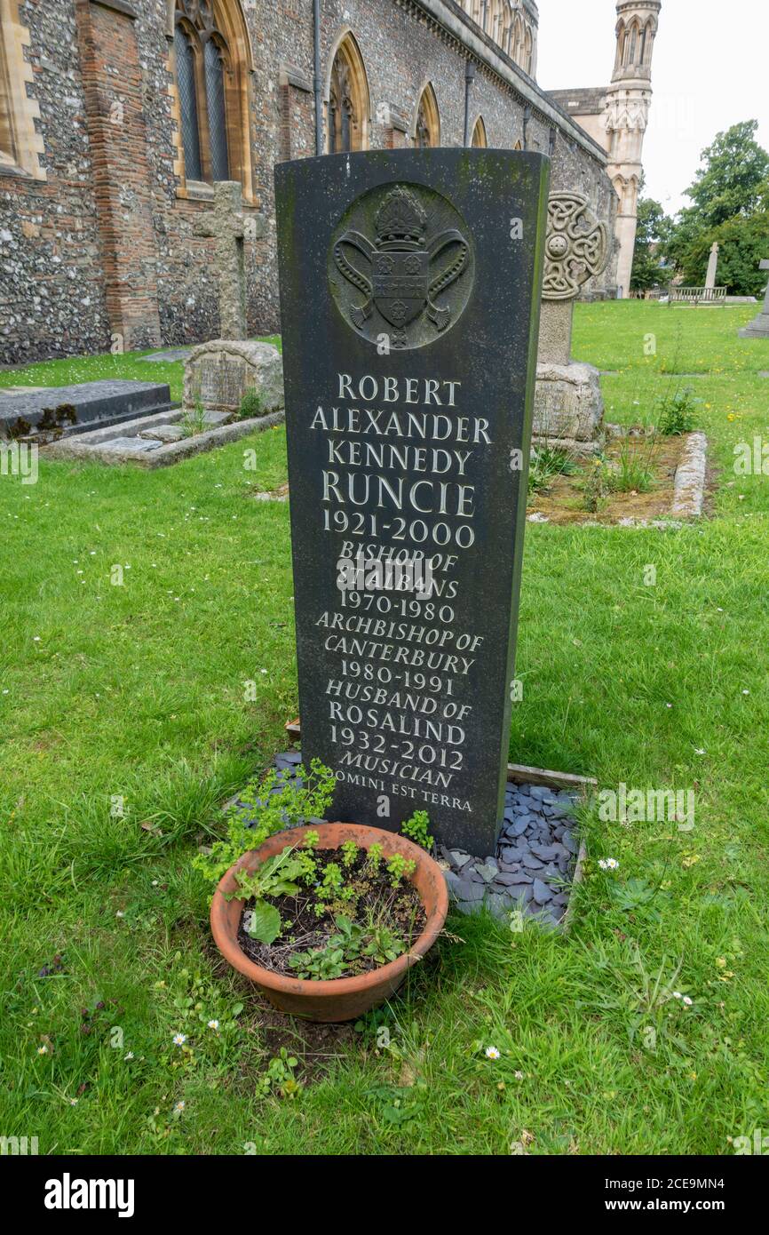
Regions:
<svg viewBox="0 0 769 1235"><path fill-rule="evenodd" d="M211 217L199 220L195 235L214 236L218 283L218 320L222 338L247 338L244 241L263 235L260 215L243 215L239 180L217 180Z"/></svg>

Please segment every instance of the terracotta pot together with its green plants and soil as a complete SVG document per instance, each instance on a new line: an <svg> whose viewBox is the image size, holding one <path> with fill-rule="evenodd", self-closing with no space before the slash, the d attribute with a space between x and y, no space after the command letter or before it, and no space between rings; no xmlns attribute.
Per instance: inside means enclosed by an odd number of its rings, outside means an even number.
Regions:
<svg viewBox="0 0 769 1235"><path fill-rule="evenodd" d="M251 809L228 811L227 835L194 863L218 878L211 924L230 963L285 1011L347 1020L388 998L434 942L446 882L406 836L302 826L327 813L336 781L317 760L295 773L249 785L254 825L243 823ZM426 813L406 825L432 844Z"/></svg>

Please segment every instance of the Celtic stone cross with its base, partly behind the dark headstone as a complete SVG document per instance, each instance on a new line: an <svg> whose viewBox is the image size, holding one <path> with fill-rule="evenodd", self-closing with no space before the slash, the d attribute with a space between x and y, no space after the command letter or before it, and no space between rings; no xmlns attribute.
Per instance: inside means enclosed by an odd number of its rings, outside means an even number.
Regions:
<svg viewBox="0 0 769 1235"><path fill-rule="evenodd" d="M572 359L574 301L584 283L606 266L609 237L581 193L553 193L548 201L539 319L534 445L563 445L590 453L600 445L604 400L599 371Z"/></svg>

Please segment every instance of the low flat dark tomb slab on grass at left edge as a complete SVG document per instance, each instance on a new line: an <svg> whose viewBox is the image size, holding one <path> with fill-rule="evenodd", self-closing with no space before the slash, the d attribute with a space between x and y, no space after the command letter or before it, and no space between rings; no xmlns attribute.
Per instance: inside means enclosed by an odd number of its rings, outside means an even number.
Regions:
<svg viewBox="0 0 769 1235"><path fill-rule="evenodd" d="M69 437L170 406L168 385L157 382L84 382L15 393L0 401L0 437Z"/></svg>

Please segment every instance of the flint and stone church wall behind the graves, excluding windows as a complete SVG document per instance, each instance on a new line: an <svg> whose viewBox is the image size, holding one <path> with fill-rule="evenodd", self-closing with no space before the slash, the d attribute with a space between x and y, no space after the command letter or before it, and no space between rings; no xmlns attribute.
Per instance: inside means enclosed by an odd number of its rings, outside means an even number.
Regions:
<svg viewBox="0 0 769 1235"><path fill-rule="evenodd" d="M265 222L264 238L246 245L248 327L253 333L267 333L279 322L273 165L281 158L311 154L315 148L312 7L300 6L297 0L242 0L242 5L254 62L254 200L247 215L258 211ZM446 7L454 15L452 28L458 28L462 10L451 0ZM370 93L370 147L411 143L409 130L427 82L437 98L442 144L462 144L465 56L451 35L441 33L430 14L412 0L322 0L321 9L325 83L341 33L349 28L357 38ZM125 10L133 10L136 20ZM41 163L47 180L0 174L0 263L7 289L0 303L0 361L216 337L214 242L195 235L196 224L212 206L180 198L174 173L167 0L56 0L54 5L21 0L20 16L30 31L26 54L41 109ZM136 47L136 63L128 56L120 72L112 59L114 40L126 40L126 46L133 40ZM84 63L85 46L91 49L89 63ZM90 82L84 80L84 68ZM526 80L531 89L531 80ZM136 91L143 117L135 116L126 125L118 109L111 124L115 100L127 95L130 101ZM542 99L547 96L542 94ZM552 116L552 103L548 105ZM479 115L489 146L522 143L523 98L502 86L483 65L472 89L472 125ZM547 110L542 115L532 111L528 148L551 151L552 119L547 117ZM557 132L552 149L553 188L586 193L599 217L613 231L615 195L604 157L586 140L580 143L568 131L569 122L564 128ZM115 162L126 161L120 143L136 143L139 132L144 133L144 149L141 165L132 172L135 183L110 184L110 168L112 180L123 175L114 170ZM131 147L128 162L130 156ZM132 249L142 253L143 288L132 289L133 300L122 320L115 298L130 280L126 262ZM148 252L152 274L144 256ZM611 273L606 280L611 282Z"/></svg>

